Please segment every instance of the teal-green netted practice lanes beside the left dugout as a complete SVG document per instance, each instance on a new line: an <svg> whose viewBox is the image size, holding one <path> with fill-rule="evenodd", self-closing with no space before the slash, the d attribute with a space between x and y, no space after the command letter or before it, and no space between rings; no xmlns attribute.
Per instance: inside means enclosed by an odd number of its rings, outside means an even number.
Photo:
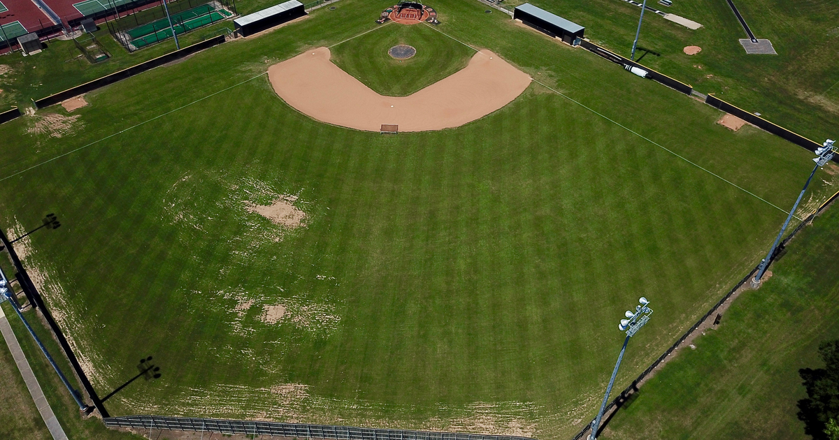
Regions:
<svg viewBox="0 0 839 440"><path fill-rule="evenodd" d="M206 26L210 23L216 23L232 15L232 13L224 9L216 11L211 5L205 4L172 15L172 28L175 28L175 34L180 35L192 29L201 28L201 26ZM152 23L143 24L143 26L138 28L130 29L126 34L132 38L131 44L137 49L140 49L149 44L171 38L172 28L169 28L168 19L161 18Z"/></svg>

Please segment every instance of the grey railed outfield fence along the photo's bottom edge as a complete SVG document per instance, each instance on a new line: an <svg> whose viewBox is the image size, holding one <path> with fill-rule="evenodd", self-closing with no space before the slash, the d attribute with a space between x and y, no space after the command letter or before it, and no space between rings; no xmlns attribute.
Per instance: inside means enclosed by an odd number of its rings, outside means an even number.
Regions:
<svg viewBox="0 0 839 440"><path fill-rule="evenodd" d="M201 417L124 416L105 417L107 427L168 429L171 431L219 432L221 434L266 435L336 440L534 440L530 437L466 434L461 432L374 429L306 423L250 422Z"/></svg>

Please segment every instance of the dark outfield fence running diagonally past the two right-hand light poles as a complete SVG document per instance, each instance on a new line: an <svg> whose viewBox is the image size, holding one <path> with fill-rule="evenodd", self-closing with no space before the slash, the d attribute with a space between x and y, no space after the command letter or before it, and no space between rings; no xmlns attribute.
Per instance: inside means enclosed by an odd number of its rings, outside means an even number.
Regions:
<svg viewBox="0 0 839 440"><path fill-rule="evenodd" d="M778 258L778 256L784 251L784 247L789 243L790 240L792 240L795 237L796 234L799 233L800 230L804 229L805 225L809 224L810 221L812 221L813 218L816 217L816 215L821 214L821 211L825 210L834 200L836 200L836 198L839 198L839 191L837 191L836 194L833 194L829 199L827 199L825 203L821 204L816 211L814 211L810 215L807 215L807 217L801 221L801 223L795 228L795 230L790 232L789 236L786 236L786 238L784 238L784 241L781 241L780 246L778 246L778 248L775 249L774 254L770 258L770 263L771 261L774 261ZM656 367L658 367L662 362L664 362L664 360L667 359L667 356L672 355L676 349L679 349L680 345L685 342L685 339L688 339L690 335L693 334L696 331L696 329L699 329L699 327L702 324L704 324L708 318L711 318L711 315L717 313L717 309L719 309L720 306L722 306L722 304L726 303L728 298L731 298L734 292L737 292L737 289L743 287L743 284L751 282L751 278L754 277L755 272L758 272L758 267L760 267L760 262L758 262L758 264L755 265L752 271L748 272L748 275L746 277L743 277L743 279L740 280L740 282L738 282L736 286L732 287L732 289L729 290L728 293L726 293L726 295L722 297L722 299L717 301L717 303L714 304L714 307L712 307L711 310L708 310L708 312L705 313L705 315L703 315L702 318L699 318L699 320L696 321L696 324L693 324L693 326L690 327L690 329L686 331L685 334L682 334L681 337L677 339L673 345L670 345L670 348L664 351L664 354L660 355L658 359L654 360L654 362L651 365L649 365L649 367L647 367L647 369L644 370L640 375L638 375L638 377L636 377L635 380L633 380L629 386L623 389L623 391L621 391L617 397L615 397L611 402L609 402L609 405L606 407L606 411L603 412L604 416L608 414L609 417L604 418L605 422L602 422L601 426L599 427L598 433L602 432L602 429L606 427L607 423L614 415L612 410L617 412L618 409L620 409L620 407L623 406L623 403L627 401L629 396L631 396L633 392L638 391L638 384L640 384L653 370L655 370ZM612 412L612 414L610 414L610 412ZM591 431L592 423L594 423L594 419L591 419L591 422L589 422L585 427L583 427L580 430L580 432L577 432L576 436L572 437L572 440L580 440L581 438L585 437Z"/></svg>

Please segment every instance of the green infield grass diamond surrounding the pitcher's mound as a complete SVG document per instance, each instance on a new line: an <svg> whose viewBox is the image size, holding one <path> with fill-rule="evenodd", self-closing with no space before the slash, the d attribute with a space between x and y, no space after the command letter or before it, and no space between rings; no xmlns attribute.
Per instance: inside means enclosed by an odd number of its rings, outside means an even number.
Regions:
<svg viewBox="0 0 839 440"><path fill-rule="evenodd" d="M388 49L408 44L417 53L394 60ZM387 23L330 49L332 62L386 96L408 96L469 63L475 51L425 25Z"/></svg>

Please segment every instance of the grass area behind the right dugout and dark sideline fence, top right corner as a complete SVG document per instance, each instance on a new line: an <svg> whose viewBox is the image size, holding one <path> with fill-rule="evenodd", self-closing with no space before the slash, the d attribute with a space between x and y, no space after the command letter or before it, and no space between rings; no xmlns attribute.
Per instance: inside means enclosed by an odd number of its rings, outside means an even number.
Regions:
<svg viewBox="0 0 839 440"><path fill-rule="evenodd" d="M586 38L629 56L641 9L621 0L528 0L586 27ZM524 0L508 0L512 8ZM737 39L748 38L726 0L674 2L668 8L703 25L690 30L648 13L638 46L660 54L644 54L641 63L716 93L748 111L759 112L780 126L818 142L836 137L839 126L839 50L836 0L740 0L737 8L759 39L770 39L778 55L748 55ZM702 48L690 56L688 45Z"/></svg>

